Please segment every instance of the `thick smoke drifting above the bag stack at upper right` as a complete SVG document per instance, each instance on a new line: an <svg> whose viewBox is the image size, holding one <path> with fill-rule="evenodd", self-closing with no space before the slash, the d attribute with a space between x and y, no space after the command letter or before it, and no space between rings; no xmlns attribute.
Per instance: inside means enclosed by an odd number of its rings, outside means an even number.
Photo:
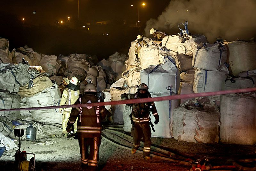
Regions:
<svg viewBox="0 0 256 171"><path fill-rule="evenodd" d="M203 34L210 43L223 39L250 39L256 35L255 0L171 0L157 19L146 23L145 33L155 28L167 34L180 32L178 24L188 21L191 34ZM180 25L184 29L184 25Z"/></svg>

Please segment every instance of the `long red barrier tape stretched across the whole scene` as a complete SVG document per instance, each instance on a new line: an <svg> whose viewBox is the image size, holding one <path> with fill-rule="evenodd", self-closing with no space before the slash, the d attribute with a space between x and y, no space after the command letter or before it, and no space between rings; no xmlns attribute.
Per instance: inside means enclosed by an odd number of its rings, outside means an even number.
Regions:
<svg viewBox="0 0 256 171"><path fill-rule="evenodd" d="M204 96L223 95L223 94L231 94L231 93L246 93L246 92L252 92L252 91L256 91L256 88L223 90L223 91L213 91L213 92L206 92L206 93L172 95L172 96L163 96L163 97L152 97L152 98L131 99L131 100L89 103L89 104L86 103L86 104L73 104L73 105L63 105L63 106L45 106L45 107L33 107L33 108L1 109L0 112L1 111L13 111L13 110L42 110L42 109L67 108L67 107L76 108L76 107L86 107L86 106L104 106L104 105L116 105L116 104L145 103L145 102L156 102L156 101L164 101L164 100L175 100L175 99L184 99L184 98L195 98L195 97L204 97Z"/></svg>

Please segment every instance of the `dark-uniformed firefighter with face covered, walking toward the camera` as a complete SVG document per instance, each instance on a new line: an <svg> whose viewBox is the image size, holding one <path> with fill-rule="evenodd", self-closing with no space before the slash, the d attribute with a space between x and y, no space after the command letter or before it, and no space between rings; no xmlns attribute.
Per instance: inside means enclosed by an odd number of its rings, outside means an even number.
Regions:
<svg viewBox="0 0 256 171"><path fill-rule="evenodd" d="M138 87L138 91L135 94L122 94L121 99L138 99L138 98L150 98L151 95L148 92L148 86L145 83L141 83ZM150 160L150 146L151 146L151 130L150 125L153 126L149 117L149 111L152 112L155 117L155 124L159 122L159 115L156 110L154 102L148 103L133 103L131 105L131 119L134 127L134 136L133 136L133 148L131 153L135 154L137 149L140 146L140 139L144 142L143 148L143 158ZM153 128L153 127L152 127Z"/></svg>

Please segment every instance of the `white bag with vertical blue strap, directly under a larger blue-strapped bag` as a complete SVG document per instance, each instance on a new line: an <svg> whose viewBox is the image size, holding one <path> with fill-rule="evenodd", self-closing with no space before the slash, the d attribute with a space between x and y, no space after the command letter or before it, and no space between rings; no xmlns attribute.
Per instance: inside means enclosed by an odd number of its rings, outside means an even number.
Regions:
<svg viewBox="0 0 256 171"><path fill-rule="evenodd" d="M195 93L220 91L227 74L220 71L207 71L196 68L193 90Z"/></svg>

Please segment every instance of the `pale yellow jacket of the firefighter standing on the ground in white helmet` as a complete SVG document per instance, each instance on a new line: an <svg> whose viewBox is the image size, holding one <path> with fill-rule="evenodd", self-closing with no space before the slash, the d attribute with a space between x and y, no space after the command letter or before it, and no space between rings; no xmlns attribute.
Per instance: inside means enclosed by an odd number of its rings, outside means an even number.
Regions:
<svg viewBox="0 0 256 171"><path fill-rule="evenodd" d="M74 104L79 97L80 88L72 84L71 82L68 84L67 88L63 90L62 97L60 100L60 106L62 105L70 105ZM64 112L71 113L72 107L64 108Z"/></svg>

